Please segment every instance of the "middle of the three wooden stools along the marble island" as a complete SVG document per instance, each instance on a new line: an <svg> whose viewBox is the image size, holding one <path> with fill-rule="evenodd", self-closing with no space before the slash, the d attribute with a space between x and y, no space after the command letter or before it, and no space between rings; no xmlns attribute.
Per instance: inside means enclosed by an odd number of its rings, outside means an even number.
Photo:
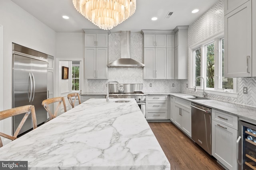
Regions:
<svg viewBox="0 0 256 170"><path fill-rule="evenodd" d="M56 107L54 114L52 114L49 104L53 104L58 102L58 106ZM65 102L65 98L64 97L56 97L56 98L50 98L50 99L46 99L42 102L42 106L44 106L44 109L46 109L46 111L49 114L49 119L52 120L53 118L57 117L58 114L58 110L60 108L61 103L63 103L63 107L64 107L64 112L67 111L66 109L66 102Z"/></svg>

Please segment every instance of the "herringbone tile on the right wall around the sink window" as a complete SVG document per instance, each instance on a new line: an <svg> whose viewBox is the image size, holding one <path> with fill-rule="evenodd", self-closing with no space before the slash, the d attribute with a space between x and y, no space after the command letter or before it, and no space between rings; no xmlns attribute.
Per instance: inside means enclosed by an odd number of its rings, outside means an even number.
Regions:
<svg viewBox="0 0 256 170"><path fill-rule="evenodd" d="M224 0L219 0L212 8L205 12L200 18L188 28L188 47L206 40L208 37L224 31ZM200 92L191 92L186 88L188 80L180 81L180 91L195 95ZM248 87L248 94L243 94L243 87ZM218 96L210 94L210 98L256 106L256 78L237 78L238 98Z"/></svg>

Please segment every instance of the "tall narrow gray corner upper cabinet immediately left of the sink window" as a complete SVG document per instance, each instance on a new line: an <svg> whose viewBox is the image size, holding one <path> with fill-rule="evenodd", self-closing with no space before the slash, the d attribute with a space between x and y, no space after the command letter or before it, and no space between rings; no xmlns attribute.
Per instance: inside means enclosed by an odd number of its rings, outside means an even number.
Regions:
<svg viewBox="0 0 256 170"><path fill-rule="evenodd" d="M188 78L188 26L175 29L175 79Z"/></svg>

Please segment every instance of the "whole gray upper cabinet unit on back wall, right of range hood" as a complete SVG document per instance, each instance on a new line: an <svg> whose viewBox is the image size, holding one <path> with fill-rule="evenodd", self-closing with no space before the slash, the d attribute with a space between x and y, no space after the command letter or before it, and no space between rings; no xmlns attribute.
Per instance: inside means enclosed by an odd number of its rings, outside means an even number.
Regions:
<svg viewBox="0 0 256 170"><path fill-rule="evenodd" d="M144 79L174 79L174 31L142 30Z"/></svg>

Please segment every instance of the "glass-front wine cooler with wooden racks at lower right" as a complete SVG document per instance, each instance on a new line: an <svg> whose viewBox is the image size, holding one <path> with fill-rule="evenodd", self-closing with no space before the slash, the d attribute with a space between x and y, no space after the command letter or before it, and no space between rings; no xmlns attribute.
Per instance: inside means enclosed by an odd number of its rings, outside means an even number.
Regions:
<svg viewBox="0 0 256 170"><path fill-rule="evenodd" d="M239 170L256 170L256 125L239 121L237 162Z"/></svg>

